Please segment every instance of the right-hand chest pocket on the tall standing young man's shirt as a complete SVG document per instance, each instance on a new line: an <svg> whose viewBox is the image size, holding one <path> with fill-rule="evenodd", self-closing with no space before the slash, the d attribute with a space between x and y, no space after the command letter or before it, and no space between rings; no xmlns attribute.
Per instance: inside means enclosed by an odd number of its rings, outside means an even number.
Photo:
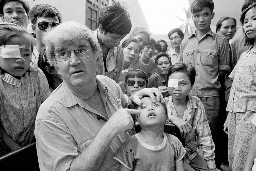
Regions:
<svg viewBox="0 0 256 171"><path fill-rule="evenodd" d="M201 62L203 65L217 65L218 52L213 50L204 51L204 56L201 56Z"/></svg>

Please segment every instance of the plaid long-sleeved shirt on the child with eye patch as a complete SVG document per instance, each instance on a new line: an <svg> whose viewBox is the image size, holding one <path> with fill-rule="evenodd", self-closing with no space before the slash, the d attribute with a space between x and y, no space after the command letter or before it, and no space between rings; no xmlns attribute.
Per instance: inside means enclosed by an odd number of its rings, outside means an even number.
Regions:
<svg viewBox="0 0 256 171"><path fill-rule="evenodd" d="M168 116L177 116L172 96L166 97L164 100L167 106ZM188 95L188 102L184 111L183 120L187 121L192 126L191 133L186 137L185 149L187 150L187 153L184 160L190 162L198 154L199 148L197 146L197 142L195 142L195 137L197 136L203 150L203 158L206 161L206 164L209 169L215 169L215 146L211 137L211 130L206 119L205 110L199 98Z"/></svg>

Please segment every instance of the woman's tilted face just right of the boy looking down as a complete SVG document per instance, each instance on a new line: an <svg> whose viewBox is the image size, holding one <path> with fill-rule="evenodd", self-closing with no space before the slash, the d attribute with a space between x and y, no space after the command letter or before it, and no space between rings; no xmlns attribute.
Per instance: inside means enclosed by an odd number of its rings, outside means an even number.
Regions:
<svg viewBox="0 0 256 171"><path fill-rule="evenodd" d="M140 54L140 44L136 42L129 43L124 49L124 62L132 64L138 61Z"/></svg>

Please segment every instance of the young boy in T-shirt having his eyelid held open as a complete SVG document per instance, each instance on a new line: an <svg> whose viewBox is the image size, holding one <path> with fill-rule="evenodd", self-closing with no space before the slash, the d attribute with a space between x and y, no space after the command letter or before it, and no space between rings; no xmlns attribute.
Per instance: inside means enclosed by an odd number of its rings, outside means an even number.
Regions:
<svg viewBox="0 0 256 171"><path fill-rule="evenodd" d="M178 138L164 133L166 106L159 101L153 103L148 96L141 101L142 106L136 106L141 112L135 121L141 132L127 139L114 155L121 163L119 171L184 171L185 148Z"/></svg>

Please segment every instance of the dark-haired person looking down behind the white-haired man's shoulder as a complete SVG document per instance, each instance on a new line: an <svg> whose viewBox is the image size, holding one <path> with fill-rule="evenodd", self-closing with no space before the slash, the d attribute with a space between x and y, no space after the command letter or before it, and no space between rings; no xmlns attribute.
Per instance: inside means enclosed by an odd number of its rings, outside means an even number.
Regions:
<svg viewBox="0 0 256 171"><path fill-rule="evenodd" d="M94 31L102 49L97 75L105 75L118 82L123 71L124 54L120 41L131 31L132 22L129 13L119 2L112 1L99 15L99 28Z"/></svg>

